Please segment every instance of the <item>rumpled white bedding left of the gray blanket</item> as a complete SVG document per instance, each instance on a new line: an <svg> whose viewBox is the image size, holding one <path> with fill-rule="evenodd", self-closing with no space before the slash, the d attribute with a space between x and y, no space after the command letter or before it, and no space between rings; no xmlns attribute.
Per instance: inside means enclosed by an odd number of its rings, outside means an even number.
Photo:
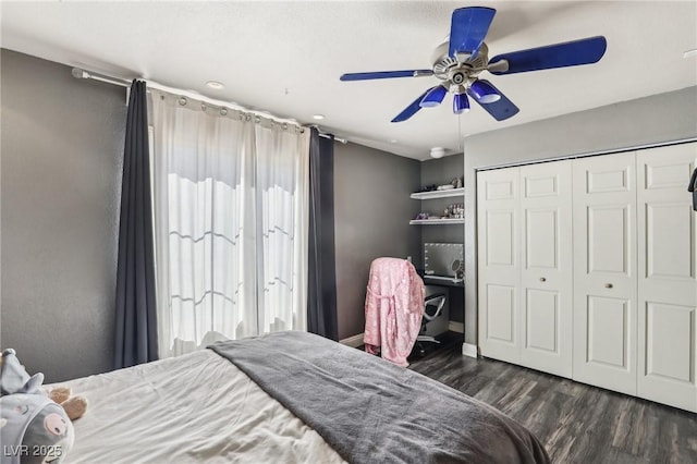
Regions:
<svg viewBox="0 0 697 464"><path fill-rule="evenodd" d="M68 463L344 462L210 350L60 384L89 401Z"/></svg>

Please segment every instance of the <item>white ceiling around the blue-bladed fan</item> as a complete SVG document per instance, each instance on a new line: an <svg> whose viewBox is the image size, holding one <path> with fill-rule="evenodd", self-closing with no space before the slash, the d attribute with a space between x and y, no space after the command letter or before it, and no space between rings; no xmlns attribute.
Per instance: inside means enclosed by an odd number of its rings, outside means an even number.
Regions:
<svg viewBox="0 0 697 464"><path fill-rule="evenodd" d="M498 13L490 57L604 35L597 64L491 76L521 112L494 121L450 99L390 123L436 77L339 81L347 72L428 69L456 8ZM125 78L145 77L320 126L416 159L463 136L697 85L696 1L2 2L1 45ZM485 73L487 74L487 73ZM220 81L223 90L207 88ZM398 141L392 143L391 141Z"/></svg>

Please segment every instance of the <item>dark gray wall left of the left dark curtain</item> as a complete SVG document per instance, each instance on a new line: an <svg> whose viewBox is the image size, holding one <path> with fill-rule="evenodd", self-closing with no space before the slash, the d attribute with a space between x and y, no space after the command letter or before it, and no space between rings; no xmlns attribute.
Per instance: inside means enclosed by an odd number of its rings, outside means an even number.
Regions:
<svg viewBox="0 0 697 464"><path fill-rule="evenodd" d="M1 345L47 381L110 370L124 89L0 59Z"/></svg>

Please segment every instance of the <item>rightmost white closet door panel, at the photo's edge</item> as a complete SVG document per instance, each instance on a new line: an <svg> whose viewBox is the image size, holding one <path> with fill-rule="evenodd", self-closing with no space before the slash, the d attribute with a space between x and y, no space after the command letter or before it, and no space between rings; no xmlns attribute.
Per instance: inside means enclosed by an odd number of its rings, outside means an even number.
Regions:
<svg viewBox="0 0 697 464"><path fill-rule="evenodd" d="M695 158L695 143L637 152L637 394L697 412Z"/></svg>

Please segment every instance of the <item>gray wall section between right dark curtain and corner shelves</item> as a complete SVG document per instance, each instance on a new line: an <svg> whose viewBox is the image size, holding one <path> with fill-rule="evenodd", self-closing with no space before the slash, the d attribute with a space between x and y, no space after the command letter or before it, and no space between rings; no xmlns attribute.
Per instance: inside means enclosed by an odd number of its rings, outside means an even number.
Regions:
<svg viewBox="0 0 697 464"><path fill-rule="evenodd" d="M420 230L409 225L418 202L419 161L355 144L334 144L334 240L339 338L365 328L370 262L412 256L420 267Z"/></svg>

